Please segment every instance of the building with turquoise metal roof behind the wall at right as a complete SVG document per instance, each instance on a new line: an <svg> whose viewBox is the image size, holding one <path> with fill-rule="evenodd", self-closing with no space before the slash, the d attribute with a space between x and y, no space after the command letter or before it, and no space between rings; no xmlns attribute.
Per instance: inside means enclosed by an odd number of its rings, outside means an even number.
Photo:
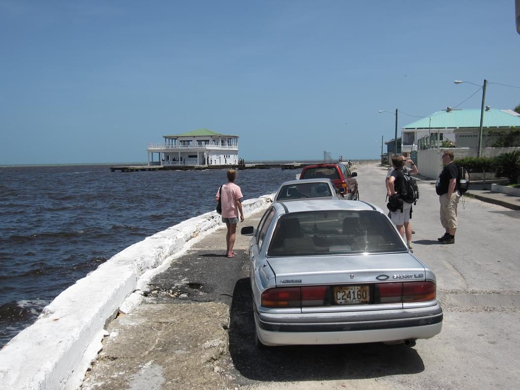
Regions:
<svg viewBox="0 0 520 390"><path fill-rule="evenodd" d="M449 139L453 146L475 148L476 151L479 126L480 109L460 110L448 107L402 127L401 150L412 152L438 148L444 140ZM483 147L491 146L496 139L496 135L490 134L490 130L505 131L515 127L520 127L520 115L486 107L482 125Z"/></svg>

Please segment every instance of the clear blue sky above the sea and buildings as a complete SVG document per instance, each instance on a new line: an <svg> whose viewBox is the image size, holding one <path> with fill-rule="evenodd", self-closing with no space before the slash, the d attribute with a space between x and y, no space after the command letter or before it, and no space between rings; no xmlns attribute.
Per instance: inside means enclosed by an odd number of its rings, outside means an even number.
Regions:
<svg viewBox="0 0 520 390"><path fill-rule="evenodd" d="M453 80L520 104L491 84L520 86L514 0L0 0L0 50L0 164L146 162L202 127L246 161L378 158L378 110L480 108Z"/></svg>

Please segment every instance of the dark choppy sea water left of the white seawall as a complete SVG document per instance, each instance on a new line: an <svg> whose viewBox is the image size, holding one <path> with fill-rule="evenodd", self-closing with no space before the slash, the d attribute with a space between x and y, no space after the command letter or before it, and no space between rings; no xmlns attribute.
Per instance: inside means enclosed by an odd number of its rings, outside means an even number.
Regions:
<svg viewBox="0 0 520 390"><path fill-rule="evenodd" d="M244 199L300 170L239 171ZM127 246L215 209L226 170L0 167L0 347L61 291Z"/></svg>

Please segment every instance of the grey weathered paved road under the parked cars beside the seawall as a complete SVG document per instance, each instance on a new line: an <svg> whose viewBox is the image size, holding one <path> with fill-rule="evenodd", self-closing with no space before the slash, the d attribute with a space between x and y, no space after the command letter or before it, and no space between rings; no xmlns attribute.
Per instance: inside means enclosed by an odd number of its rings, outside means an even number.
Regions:
<svg viewBox="0 0 520 390"><path fill-rule="evenodd" d="M384 208L385 168L361 165L358 174L361 199ZM248 240L239 237L239 256L227 259L217 249L224 242L219 231L174 259L152 280L146 302L110 324L83 388L517 388L520 211L466 199L456 244L440 245L434 186L423 181L419 188L414 254L435 271L445 314L433 339L413 348L255 349Z"/></svg>

